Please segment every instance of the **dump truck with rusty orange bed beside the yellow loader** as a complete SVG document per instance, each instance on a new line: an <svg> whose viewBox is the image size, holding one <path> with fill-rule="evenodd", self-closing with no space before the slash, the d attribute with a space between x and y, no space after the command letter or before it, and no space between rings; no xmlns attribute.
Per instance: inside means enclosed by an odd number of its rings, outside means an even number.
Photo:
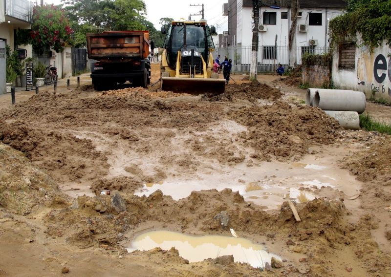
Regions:
<svg viewBox="0 0 391 277"><path fill-rule="evenodd" d="M148 31L87 34L88 59L95 90L113 89L126 81L147 88L151 80Z"/></svg>

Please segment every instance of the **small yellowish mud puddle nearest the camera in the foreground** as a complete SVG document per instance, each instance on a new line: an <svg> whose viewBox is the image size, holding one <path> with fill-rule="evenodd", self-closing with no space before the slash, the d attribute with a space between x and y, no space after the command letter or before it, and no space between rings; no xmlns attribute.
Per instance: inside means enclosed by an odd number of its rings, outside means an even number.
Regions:
<svg viewBox="0 0 391 277"><path fill-rule="evenodd" d="M248 239L220 235L193 236L170 231L140 234L131 242L128 252L148 251L155 247L163 250L175 247L179 256L189 262L233 255L235 262L246 262L255 268L263 268L266 262L270 264L272 257L281 260L279 256L268 253L262 245Z"/></svg>

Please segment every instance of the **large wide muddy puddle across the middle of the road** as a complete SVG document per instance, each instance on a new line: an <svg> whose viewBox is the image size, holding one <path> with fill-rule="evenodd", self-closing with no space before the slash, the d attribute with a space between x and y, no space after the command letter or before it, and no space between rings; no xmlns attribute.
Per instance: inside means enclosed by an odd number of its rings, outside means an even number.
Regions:
<svg viewBox="0 0 391 277"><path fill-rule="evenodd" d="M252 167L245 163L235 167L221 167L197 177L184 179L168 177L160 183L146 183L135 195L150 195L156 190L170 195L174 200L185 198L192 191L225 188L238 191L246 201L264 206L267 209L278 208L286 199L304 203L315 197L329 200L357 194L361 183L349 175L347 170L337 166L340 156L334 150L327 149L326 154L307 155L300 163L261 162ZM327 188L327 192L324 189ZM357 203L356 203L357 202ZM348 205L356 207L358 201Z"/></svg>

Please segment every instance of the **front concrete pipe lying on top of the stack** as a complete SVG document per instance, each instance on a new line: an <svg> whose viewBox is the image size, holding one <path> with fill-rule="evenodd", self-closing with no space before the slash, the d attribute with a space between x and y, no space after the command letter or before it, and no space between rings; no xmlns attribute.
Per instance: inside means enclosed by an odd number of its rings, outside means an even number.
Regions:
<svg viewBox="0 0 391 277"><path fill-rule="evenodd" d="M312 106L322 110L348 110L363 113L367 99L364 92L343 89L318 89Z"/></svg>

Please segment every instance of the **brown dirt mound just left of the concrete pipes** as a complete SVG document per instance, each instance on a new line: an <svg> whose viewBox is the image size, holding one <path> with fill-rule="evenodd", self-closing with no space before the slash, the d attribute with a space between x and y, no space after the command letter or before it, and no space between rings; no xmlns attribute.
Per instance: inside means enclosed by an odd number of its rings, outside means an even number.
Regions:
<svg viewBox="0 0 391 277"><path fill-rule="evenodd" d="M234 110L230 116L249 127L239 137L245 146L257 150L252 157L268 161L273 157L298 159L310 152L311 144L331 144L340 137L338 122L312 107L277 102L272 106Z"/></svg>

